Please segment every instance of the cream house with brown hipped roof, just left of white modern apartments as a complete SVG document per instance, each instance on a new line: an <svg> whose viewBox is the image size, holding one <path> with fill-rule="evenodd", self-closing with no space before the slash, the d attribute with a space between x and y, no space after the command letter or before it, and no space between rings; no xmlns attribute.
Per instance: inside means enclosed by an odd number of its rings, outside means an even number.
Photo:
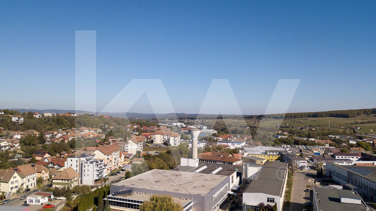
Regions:
<svg viewBox="0 0 376 211"><path fill-rule="evenodd" d="M73 168L65 168L52 178L52 187L73 187L78 185L78 177L78 173Z"/></svg>

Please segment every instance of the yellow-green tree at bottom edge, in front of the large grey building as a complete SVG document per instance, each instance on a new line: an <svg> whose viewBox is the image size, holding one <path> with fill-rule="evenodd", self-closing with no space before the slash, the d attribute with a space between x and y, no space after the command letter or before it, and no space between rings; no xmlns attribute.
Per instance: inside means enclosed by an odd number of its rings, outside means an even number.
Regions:
<svg viewBox="0 0 376 211"><path fill-rule="evenodd" d="M140 211L182 211L183 207L169 195L153 195L140 205Z"/></svg>

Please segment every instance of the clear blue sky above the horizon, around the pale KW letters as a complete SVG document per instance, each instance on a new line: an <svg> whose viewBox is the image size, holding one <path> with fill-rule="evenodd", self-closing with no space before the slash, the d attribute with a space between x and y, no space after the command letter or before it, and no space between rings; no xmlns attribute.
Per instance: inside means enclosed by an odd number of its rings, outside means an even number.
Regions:
<svg viewBox="0 0 376 211"><path fill-rule="evenodd" d="M75 108L76 30L96 30L97 111L132 79L161 79L174 112L199 112L213 79L226 113L263 114L279 79L300 79L288 112L375 107L374 1L0 4L0 108Z"/></svg>

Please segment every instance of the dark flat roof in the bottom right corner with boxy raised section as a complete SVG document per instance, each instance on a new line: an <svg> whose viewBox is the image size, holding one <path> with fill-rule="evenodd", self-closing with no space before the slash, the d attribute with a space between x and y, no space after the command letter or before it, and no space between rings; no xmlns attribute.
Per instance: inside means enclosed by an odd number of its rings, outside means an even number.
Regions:
<svg viewBox="0 0 376 211"><path fill-rule="evenodd" d="M340 197L350 197L356 199L362 199L361 196L351 190L338 190L324 187L314 187L314 194L316 199L320 199L320 203L317 203L318 210L351 210L351 211L365 211L366 205L364 202L361 204L354 203L341 203ZM352 194L352 193L355 194Z"/></svg>

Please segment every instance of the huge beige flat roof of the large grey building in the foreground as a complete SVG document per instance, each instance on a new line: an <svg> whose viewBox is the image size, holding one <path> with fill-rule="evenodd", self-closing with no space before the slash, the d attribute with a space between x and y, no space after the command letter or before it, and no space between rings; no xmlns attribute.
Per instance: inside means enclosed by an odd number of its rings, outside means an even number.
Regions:
<svg viewBox="0 0 376 211"><path fill-rule="evenodd" d="M226 178L227 176L220 175L153 169L113 185L206 195ZM175 189L179 189L179 191L175 191Z"/></svg>

